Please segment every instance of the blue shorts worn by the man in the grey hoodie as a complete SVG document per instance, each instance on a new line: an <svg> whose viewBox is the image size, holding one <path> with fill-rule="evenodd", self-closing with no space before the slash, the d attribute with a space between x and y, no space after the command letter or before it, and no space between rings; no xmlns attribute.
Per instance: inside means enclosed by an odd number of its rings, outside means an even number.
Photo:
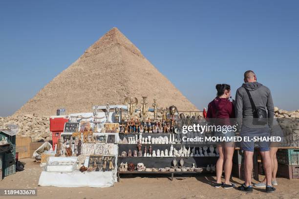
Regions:
<svg viewBox="0 0 299 199"><path fill-rule="evenodd" d="M244 151L254 151L255 150L255 143L257 144L257 147L259 148L260 152L263 151L270 151L270 143L269 141L253 141L255 137L270 137L270 129L269 127L263 127L263 128L249 128L247 126L242 126L240 136L242 137L241 141L241 147ZM247 140L244 141L244 138Z"/></svg>

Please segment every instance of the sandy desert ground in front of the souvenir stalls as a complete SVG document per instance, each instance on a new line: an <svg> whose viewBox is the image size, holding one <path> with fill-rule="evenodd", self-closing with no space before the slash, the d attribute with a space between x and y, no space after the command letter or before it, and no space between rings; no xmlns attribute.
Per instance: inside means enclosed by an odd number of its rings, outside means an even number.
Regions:
<svg viewBox="0 0 299 199"><path fill-rule="evenodd" d="M5 177L0 188L37 188L38 196L33 199L289 199L298 198L299 179L278 178L277 191L265 193L264 189L254 189L253 193L244 193L236 189L214 188L213 176L182 177L171 181L169 178L134 177L121 178L120 182L108 188L61 188L39 187L42 171L34 159L21 159L26 163L25 170ZM263 176L260 176L262 179ZM233 178L240 185L243 181ZM253 181L256 183L256 180ZM0 197L3 198L3 197ZM30 197L9 197L9 199Z"/></svg>

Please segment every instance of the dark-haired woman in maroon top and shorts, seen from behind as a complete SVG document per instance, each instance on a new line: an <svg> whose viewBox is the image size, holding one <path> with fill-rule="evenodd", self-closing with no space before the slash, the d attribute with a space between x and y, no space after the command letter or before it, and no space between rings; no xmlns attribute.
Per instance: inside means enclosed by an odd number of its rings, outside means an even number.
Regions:
<svg viewBox="0 0 299 199"><path fill-rule="evenodd" d="M230 118L235 118L234 104L229 100L231 96L231 86L228 84L217 84L217 97L209 103L207 118L208 120L214 119L217 125L227 126L231 125ZM210 118L210 119L209 119ZM216 124L215 124L216 125ZM234 136L233 131L218 132L222 137ZM235 187L235 184L230 182L230 177L233 167L233 154L235 150L234 142L221 142L217 143L219 151L219 158L216 163L216 188L223 186L225 189ZM221 176L224 164L225 182L221 182Z"/></svg>

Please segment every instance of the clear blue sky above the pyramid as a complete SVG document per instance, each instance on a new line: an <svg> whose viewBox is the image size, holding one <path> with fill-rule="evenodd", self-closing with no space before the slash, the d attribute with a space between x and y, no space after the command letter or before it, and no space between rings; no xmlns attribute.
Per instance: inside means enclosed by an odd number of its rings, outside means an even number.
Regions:
<svg viewBox="0 0 299 199"><path fill-rule="evenodd" d="M2 0L0 116L118 27L199 109L246 70L279 108L299 109L297 0Z"/></svg>

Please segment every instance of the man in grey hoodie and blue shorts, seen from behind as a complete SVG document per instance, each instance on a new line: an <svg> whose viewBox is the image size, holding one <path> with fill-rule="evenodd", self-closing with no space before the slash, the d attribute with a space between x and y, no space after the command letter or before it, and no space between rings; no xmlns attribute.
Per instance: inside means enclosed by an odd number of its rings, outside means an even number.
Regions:
<svg viewBox="0 0 299 199"><path fill-rule="evenodd" d="M238 189L240 191L252 192L251 184L252 169L253 169L253 154L255 142L251 139L254 137L269 137L270 128L274 118L274 105L269 88L256 81L256 74L253 71L246 71L244 73L244 82L235 94L235 117L240 125L242 120L241 137L248 137L248 141L242 141L242 150L244 150L245 160L245 183ZM247 90L247 91L246 91ZM249 98L248 91L254 102L256 108L267 110L268 125L256 125L253 122L256 118L254 108ZM272 163L270 158L269 143L266 141L258 142L259 151L262 157L263 166L266 174L266 191L274 192L275 188L272 186Z"/></svg>

